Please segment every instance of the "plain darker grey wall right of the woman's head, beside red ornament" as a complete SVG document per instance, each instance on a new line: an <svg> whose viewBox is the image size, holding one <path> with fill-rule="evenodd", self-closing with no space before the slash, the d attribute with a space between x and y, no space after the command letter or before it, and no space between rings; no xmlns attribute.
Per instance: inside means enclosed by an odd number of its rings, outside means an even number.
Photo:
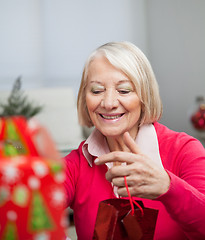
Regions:
<svg viewBox="0 0 205 240"><path fill-rule="evenodd" d="M189 111L205 96L205 1L147 0L149 58L164 103L162 123L195 135Z"/></svg>

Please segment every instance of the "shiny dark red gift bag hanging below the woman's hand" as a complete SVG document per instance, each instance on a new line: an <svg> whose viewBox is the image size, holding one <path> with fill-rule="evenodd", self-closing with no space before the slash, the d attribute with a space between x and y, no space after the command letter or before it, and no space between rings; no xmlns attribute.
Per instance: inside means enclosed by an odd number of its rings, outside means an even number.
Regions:
<svg viewBox="0 0 205 240"><path fill-rule="evenodd" d="M151 240L157 216L158 210L141 201L132 210L130 200L107 199L99 204L93 240Z"/></svg>

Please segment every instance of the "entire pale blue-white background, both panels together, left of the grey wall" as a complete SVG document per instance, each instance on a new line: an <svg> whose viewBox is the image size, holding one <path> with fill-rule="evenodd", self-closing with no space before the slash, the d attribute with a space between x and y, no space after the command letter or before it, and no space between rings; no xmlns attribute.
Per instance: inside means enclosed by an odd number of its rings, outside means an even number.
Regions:
<svg viewBox="0 0 205 240"><path fill-rule="evenodd" d="M0 0L0 87L72 86L83 64L107 41L146 51L143 0Z"/></svg>

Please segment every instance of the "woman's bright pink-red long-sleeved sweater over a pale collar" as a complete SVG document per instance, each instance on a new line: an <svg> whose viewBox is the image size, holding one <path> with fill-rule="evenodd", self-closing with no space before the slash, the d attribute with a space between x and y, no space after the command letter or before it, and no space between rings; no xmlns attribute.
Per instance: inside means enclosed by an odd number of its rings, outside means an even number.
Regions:
<svg viewBox="0 0 205 240"><path fill-rule="evenodd" d="M185 133L154 123L164 168L171 177L167 193L155 200L142 200L145 207L159 210L156 240L205 239L205 149ZM82 145L65 157L65 187L68 206L74 210L79 240L91 240L98 204L115 198L105 179L105 165L91 167ZM94 158L93 158L94 160Z"/></svg>

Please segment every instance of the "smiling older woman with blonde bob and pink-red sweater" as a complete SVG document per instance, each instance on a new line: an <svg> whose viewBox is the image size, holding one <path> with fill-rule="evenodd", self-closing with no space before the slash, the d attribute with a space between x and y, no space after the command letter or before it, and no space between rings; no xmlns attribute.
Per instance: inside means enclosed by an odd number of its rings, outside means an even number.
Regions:
<svg viewBox="0 0 205 240"><path fill-rule="evenodd" d="M205 239L205 150L158 123L161 113L152 67L135 45L111 42L90 55L78 115L95 128L65 157L79 240L92 239L100 201L128 196L124 176L134 199L159 210L154 239Z"/></svg>

